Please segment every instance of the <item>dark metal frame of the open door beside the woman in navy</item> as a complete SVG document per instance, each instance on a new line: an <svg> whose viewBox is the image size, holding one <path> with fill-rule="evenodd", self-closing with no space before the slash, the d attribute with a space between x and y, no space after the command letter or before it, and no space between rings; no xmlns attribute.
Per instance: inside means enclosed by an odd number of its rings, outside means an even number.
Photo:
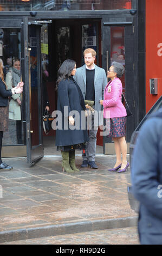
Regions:
<svg viewBox="0 0 162 256"><path fill-rule="evenodd" d="M26 143L27 143L27 162L29 166L32 166L36 161L43 157L43 131L42 131L42 106L40 108L40 120L39 120L39 134L41 134L41 143L36 147L32 148L31 145L31 129L30 129L30 71L29 71L29 55L30 55L30 45L29 45L29 26L36 26L36 37L37 37L37 49L38 49L38 82L40 83L38 89L38 101L42 102L42 76L41 76L41 44L40 44L40 34L38 28L40 25L36 23L36 19L25 16L23 20L23 41L24 41L24 79L27 86L26 90L26 100L25 100L25 116L26 116ZM37 117L36 117L37 118Z"/></svg>

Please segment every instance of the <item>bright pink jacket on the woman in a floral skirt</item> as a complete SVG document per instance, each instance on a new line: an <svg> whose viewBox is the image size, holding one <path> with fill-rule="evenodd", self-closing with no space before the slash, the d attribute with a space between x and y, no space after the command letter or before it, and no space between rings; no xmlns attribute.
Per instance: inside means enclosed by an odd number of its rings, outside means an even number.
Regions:
<svg viewBox="0 0 162 256"><path fill-rule="evenodd" d="M105 87L103 100L103 117L126 117L126 109L121 102L122 83L117 77Z"/></svg>

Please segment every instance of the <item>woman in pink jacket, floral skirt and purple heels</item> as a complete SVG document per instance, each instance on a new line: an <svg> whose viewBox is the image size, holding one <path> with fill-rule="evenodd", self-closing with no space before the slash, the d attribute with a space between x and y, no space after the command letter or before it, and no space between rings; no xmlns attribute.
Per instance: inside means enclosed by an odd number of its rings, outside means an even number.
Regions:
<svg viewBox="0 0 162 256"><path fill-rule="evenodd" d="M116 153L116 163L110 171L125 172L129 166L127 162L126 133L126 109L121 102L122 83L119 79L124 74L124 66L121 63L113 62L107 72L111 81L105 87L103 105L103 117L110 118L110 133L113 138ZM122 159L121 159L122 155ZM120 170L119 170L120 168Z"/></svg>

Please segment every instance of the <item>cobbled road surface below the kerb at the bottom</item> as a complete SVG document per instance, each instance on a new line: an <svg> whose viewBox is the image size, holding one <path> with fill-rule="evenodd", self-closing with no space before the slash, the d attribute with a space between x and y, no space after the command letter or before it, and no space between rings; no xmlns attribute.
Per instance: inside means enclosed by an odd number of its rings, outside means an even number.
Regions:
<svg viewBox="0 0 162 256"><path fill-rule="evenodd" d="M139 245L136 227L114 228L84 233L12 241L1 245Z"/></svg>

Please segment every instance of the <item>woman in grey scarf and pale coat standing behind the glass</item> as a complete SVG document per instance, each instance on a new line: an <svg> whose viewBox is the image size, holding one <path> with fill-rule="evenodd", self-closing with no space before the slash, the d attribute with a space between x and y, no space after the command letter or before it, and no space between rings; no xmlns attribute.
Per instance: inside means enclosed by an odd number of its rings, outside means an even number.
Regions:
<svg viewBox="0 0 162 256"><path fill-rule="evenodd" d="M17 83L21 80L21 70L20 70L20 59L13 59L13 65L9 68L9 71L5 77L5 83L7 84L7 89L15 88ZM9 119L16 120L16 137L17 144L22 144L22 121L21 121L21 95L16 94L11 96L9 105Z"/></svg>

